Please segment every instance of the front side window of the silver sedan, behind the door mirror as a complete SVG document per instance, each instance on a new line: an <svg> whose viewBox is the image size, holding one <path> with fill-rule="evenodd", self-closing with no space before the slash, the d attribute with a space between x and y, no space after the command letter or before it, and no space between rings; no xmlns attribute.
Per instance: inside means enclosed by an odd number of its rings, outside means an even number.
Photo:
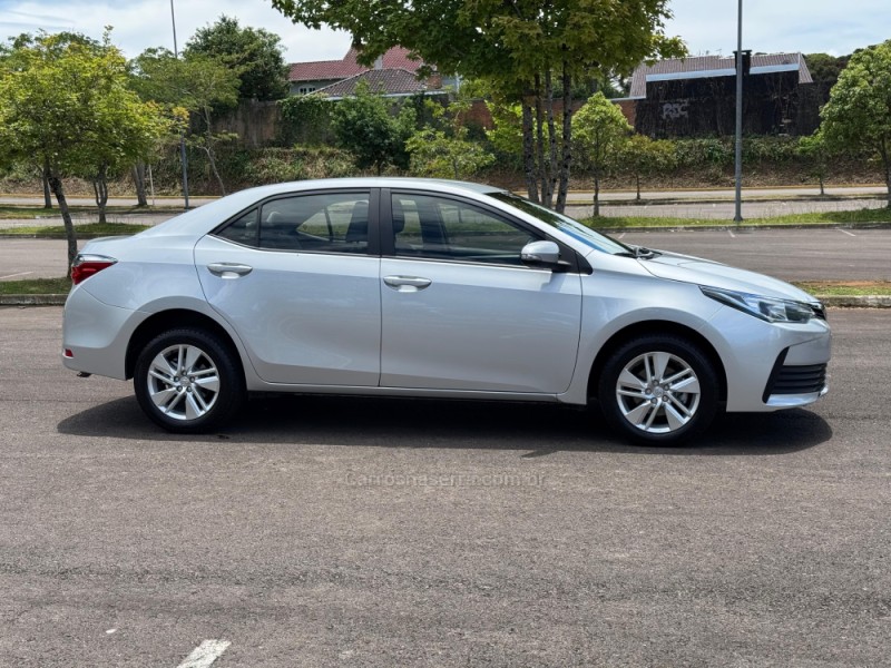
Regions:
<svg viewBox="0 0 891 668"><path fill-rule="evenodd" d="M405 193L392 194L398 257L520 265L520 250L542 238L476 205Z"/></svg>

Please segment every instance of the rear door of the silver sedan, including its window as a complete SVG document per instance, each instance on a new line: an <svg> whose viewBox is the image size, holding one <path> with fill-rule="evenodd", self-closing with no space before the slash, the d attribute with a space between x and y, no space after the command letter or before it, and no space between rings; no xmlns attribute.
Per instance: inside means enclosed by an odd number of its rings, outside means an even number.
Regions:
<svg viewBox="0 0 891 668"><path fill-rule="evenodd" d="M278 196L195 247L207 301L270 383L375 386L381 294L376 191Z"/></svg>

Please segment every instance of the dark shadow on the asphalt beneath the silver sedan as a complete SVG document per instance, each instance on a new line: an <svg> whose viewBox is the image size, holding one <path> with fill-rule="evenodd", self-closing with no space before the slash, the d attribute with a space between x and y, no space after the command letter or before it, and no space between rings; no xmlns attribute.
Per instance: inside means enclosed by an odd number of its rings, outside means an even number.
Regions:
<svg viewBox="0 0 891 668"><path fill-rule="evenodd" d="M608 430L597 411L557 404L297 395L252 399L241 415L212 434L167 433L149 422L133 397L70 415L58 430L155 443L523 450L525 458L560 451L770 455L799 452L832 438L829 423L805 410L722 415L703 436L666 449L629 445Z"/></svg>

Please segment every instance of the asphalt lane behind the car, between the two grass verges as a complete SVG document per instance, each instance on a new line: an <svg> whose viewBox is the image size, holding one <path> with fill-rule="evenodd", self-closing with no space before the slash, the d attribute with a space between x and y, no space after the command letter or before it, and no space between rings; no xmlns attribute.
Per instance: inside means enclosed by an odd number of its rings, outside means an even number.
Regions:
<svg viewBox="0 0 891 668"><path fill-rule="evenodd" d="M688 230L615 236L785 281L891 281L891 229ZM65 271L62 240L0 239L0 281L62 276Z"/></svg>

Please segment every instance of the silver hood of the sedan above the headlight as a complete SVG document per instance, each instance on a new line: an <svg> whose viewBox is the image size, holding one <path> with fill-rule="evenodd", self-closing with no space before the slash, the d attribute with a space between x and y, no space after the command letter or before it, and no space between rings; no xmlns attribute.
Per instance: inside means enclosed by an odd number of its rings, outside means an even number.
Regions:
<svg viewBox="0 0 891 668"><path fill-rule="evenodd" d="M779 297L795 302L816 302L806 292L784 281L757 274L746 269L737 269L718 262L660 252L662 255L645 259L640 265L654 276L668 281L695 283L711 287L721 287L765 297Z"/></svg>

